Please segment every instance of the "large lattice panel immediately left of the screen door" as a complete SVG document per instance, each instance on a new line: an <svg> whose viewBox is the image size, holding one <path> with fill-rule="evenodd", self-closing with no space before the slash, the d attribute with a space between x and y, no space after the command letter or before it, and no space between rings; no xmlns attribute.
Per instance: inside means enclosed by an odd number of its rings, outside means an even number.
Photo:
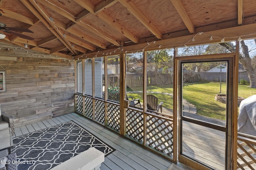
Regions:
<svg viewBox="0 0 256 170"><path fill-rule="evenodd" d="M173 153L173 122L147 116L147 144L165 154Z"/></svg>

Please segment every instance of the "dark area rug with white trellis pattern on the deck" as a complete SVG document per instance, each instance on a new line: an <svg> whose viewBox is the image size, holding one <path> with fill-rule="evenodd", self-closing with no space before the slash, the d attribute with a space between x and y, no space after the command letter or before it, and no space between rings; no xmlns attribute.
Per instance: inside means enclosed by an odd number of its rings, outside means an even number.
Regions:
<svg viewBox="0 0 256 170"><path fill-rule="evenodd" d="M105 156L114 151L73 121L15 137L13 145L18 170L49 170L91 147Z"/></svg>

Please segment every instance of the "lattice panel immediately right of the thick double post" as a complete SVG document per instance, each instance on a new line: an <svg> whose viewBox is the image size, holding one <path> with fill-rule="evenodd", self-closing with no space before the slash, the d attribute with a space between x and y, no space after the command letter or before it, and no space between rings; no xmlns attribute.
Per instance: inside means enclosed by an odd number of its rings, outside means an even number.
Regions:
<svg viewBox="0 0 256 170"><path fill-rule="evenodd" d="M143 113L126 109L126 134L143 142Z"/></svg>

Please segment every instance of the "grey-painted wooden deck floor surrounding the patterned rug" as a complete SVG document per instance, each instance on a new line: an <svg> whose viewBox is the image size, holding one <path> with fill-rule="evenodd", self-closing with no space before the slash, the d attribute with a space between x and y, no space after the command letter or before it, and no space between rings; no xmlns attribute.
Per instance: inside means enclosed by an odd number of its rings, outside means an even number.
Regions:
<svg viewBox="0 0 256 170"><path fill-rule="evenodd" d="M101 170L167 170L171 165L171 162L164 158L143 149L142 147L120 137L118 134L105 129L97 123L94 123L76 113L69 113L49 120L15 128L14 137L70 120L78 123L96 137L116 149L112 154L106 156L105 161L100 167ZM183 164L178 165L186 169L191 169Z"/></svg>

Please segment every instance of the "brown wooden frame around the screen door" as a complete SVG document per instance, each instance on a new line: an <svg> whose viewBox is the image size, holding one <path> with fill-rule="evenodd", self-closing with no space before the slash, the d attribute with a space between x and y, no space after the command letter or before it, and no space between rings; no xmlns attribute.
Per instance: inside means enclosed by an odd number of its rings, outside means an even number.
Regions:
<svg viewBox="0 0 256 170"><path fill-rule="evenodd" d="M176 50L177 51L177 50ZM197 56L186 56L186 57L176 57L174 55L174 94L178 94L178 98L174 98L174 112L178 113L176 122L178 122L178 161L182 162L192 168L196 169L206 169L209 168L204 166L203 164L199 164L194 160L191 160L187 158L186 156L182 155L181 150L181 143L182 143L182 135L181 135L181 114L182 114L182 82L181 82L181 75L182 72L180 70L180 67L182 63L192 63L192 62L214 62L214 61L227 61L229 63L228 66L228 77L227 77L227 103L226 103L226 109L227 109L227 115L226 115L226 150L225 150L225 169L232 169L233 163L233 145L234 145L234 115L233 115L233 106L234 106L234 74L235 74L235 56L236 53L225 53L225 54L214 54L214 55L197 55ZM212 126L214 129L215 126ZM217 127L218 128L218 127Z"/></svg>

